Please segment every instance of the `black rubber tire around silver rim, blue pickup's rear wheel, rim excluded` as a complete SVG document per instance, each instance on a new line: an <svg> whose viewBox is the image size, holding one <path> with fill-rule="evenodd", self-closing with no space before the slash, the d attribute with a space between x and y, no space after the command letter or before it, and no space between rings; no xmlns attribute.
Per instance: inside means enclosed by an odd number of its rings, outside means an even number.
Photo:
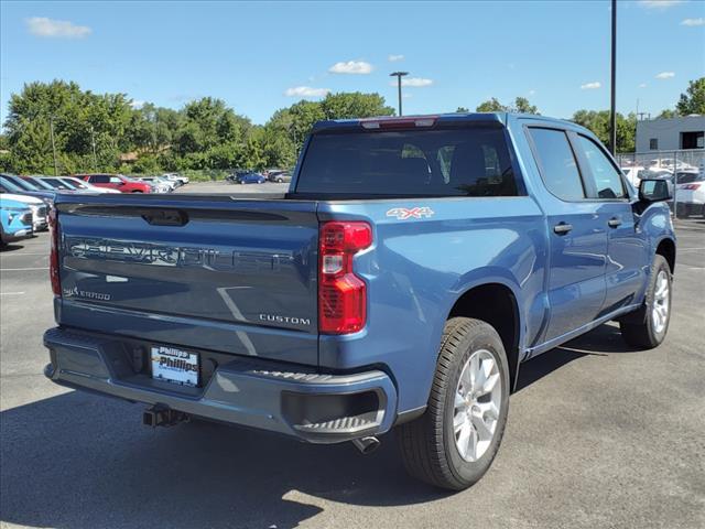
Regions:
<svg viewBox="0 0 705 529"><path fill-rule="evenodd" d="M460 456L453 428L455 392L470 355L485 349L499 368L501 402L494 436L476 461ZM399 427L397 439L406 471L431 485L462 490L490 467L505 432L509 410L509 368L501 338L491 325L467 317L448 320L443 332L436 373L426 411Z"/></svg>

